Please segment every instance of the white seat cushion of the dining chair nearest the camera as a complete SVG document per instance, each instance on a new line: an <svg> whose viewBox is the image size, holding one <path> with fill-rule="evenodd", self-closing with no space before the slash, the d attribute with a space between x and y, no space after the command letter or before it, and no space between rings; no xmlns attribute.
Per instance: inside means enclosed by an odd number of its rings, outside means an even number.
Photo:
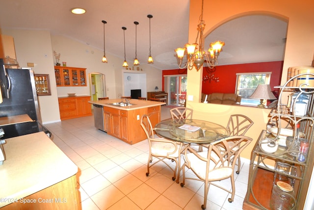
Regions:
<svg viewBox="0 0 314 210"><path fill-rule="evenodd" d="M204 158L207 158L207 151L203 152L198 152L199 155L201 155ZM187 159L190 161L190 168L203 180L205 180L206 177L206 163L205 161L201 160L198 158L195 154L193 153L187 153L186 154ZM218 156L212 152L211 156L213 159L216 161L219 160ZM227 179L229 178L232 173L232 167L230 166L224 166L224 167L216 167L214 169L215 163L210 160L209 161L209 180L221 180L221 179Z"/></svg>

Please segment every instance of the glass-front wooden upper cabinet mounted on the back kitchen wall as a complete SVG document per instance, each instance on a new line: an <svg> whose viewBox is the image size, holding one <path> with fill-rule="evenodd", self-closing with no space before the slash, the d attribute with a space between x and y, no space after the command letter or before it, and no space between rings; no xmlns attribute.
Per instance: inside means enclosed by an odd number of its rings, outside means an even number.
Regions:
<svg viewBox="0 0 314 210"><path fill-rule="evenodd" d="M58 87L86 86L86 68L54 66L54 74Z"/></svg>

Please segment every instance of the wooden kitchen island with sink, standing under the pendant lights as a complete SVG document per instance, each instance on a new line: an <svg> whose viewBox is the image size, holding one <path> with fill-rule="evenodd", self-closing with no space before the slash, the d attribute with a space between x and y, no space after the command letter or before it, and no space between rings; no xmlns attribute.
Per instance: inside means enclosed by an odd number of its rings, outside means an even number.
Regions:
<svg viewBox="0 0 314 210"><path fill-rule="evenodd" d="M97 100L89 103L103 107L104 131L129 144L147 139L141 127L141 117L148 115L154 127L161 119L161 105L166 104L138 99L130 99L130 105L123 104L123 106L120 106L121 99Z"/></svg>

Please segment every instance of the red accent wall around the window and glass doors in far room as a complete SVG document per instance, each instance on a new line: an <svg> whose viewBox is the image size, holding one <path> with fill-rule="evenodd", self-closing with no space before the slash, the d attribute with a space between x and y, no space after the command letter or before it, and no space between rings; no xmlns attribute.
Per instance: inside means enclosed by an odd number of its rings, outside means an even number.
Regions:
<svg viewBox="0 0 314 210"><path fill-rule="evenodd" d="M219 82L203 82L202 92L206 94L210 94L212 92L235 93L236 73L247 72L272 72L270 77L270 87L271 90L274 90L274 86L280 85L283 64L284 61L272 61L216 66L214 76L219 77ZM163 76L177 74L186 74L186 69L172 69L162 71L162 90L164 89ZM206 74L209 73L205 67L203 69L203 78Z"/></svg>

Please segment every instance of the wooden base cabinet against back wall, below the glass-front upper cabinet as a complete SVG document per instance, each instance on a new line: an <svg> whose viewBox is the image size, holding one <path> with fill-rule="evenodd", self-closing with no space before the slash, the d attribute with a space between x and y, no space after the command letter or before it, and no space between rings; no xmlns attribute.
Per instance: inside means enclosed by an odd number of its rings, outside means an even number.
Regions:
<svg viewBox="0 0 314 210"><path fill-rule="evenodd" d="M59 97L60 119L67 120L92 115L90 96Z"/></svg>

